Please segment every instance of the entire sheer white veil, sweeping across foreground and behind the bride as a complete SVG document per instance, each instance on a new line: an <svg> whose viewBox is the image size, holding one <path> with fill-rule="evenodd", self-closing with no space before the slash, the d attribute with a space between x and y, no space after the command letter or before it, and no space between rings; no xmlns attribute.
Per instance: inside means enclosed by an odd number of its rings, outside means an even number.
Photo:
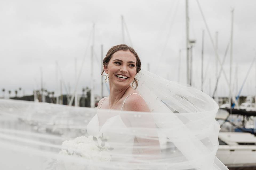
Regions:
<svg viewBox="0 0 256 170"><path fill-rule="evenodd" d="M148 71L136 77L150 113L1 99L0 167L227 169L215 156L217 103ZM99 114L107 118L101 127Z"/></svg>

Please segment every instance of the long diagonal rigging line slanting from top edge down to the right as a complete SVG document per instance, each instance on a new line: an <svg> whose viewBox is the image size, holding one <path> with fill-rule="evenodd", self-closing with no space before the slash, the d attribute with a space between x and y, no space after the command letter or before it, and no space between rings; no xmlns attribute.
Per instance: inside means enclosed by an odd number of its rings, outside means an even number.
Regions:
<svg viewBox="0 0 256 170"><path fill-rule="evenodd" d="M216 57L217 57L217 60L218 60L218 62L219 62L219 65L221 65L221 60L219 59L219 54L218 54L218 52L217 52L217 50L216 50L216 47L214 46L213 37L211 36L209 27L208 27L208 25L207 25L207 23L206 23L205 16L203 15L203 11L202 11L202 8L201 8L201 6L200 6L198 0L197 0L197 5L198 5L198 7L199 7L199 10L200 10L200 12L201 12L203 21L204 21L204 23L205 23L206 30L207 30L208 35L209 35L210 40L211 40L211 44L213 45L214 53L215 53L215 55L216 55ZM222 68L222 70L223 70L223 74L224 74L225 80L226 80L227 84L229 84L229 80L227 79L227 75L226 75L226 73L225 73L225 71L224 71L222 65L221 65L221 68ZM228 86L228 87L229 87L229 86ZM229 92L230 92L230 94L231 94L232 100L235 102L235 105L238 106L238 103L237 103L237 101L235 100L235 97L234 97L234 94L233 94L233 92L232 92L232 90L231 90L231 87L229 87Z"/></svg>

